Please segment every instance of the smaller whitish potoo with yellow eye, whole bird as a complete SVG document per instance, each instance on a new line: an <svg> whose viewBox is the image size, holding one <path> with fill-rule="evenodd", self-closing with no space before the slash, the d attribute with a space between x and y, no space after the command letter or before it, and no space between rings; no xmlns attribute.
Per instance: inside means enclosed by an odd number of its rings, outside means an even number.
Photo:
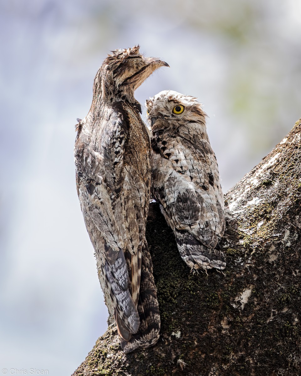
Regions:
<svg viewBox="0 0 301 376"><path fill-rule="evenodd" d="M218 240L225 231L222 188L196 98L161 91L146 100L152 127L151 193L192 269L225 268Z"/></svg>

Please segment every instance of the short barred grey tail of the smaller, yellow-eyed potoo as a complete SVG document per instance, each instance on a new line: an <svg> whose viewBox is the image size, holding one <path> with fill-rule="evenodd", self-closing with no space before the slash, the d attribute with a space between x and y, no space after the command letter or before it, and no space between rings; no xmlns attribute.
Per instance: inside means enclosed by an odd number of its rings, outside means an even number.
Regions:
<svg viewBox="0 0 301 376"><path fill-rule="evenodd" d="M180 255L190 268L223 270L226 267L225 255L218 243L215 248L206 247L191 233L184 230L175 229L175 235Z"/></svg>

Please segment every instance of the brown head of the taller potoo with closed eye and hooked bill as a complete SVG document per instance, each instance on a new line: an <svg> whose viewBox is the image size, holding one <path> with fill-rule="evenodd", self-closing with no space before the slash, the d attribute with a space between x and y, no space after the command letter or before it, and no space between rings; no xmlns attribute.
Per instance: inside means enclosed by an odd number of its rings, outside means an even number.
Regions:
<svg viewBox="0 0 301 376"><path fill-rule="evenodd" d="M160 67L169 67L169 65L158 58L144 57L139 52L139 45L112 51L96 74L94 94L97 92L113 94L113 96L119 96L124 92L133 94L141 83Z"/></svg>

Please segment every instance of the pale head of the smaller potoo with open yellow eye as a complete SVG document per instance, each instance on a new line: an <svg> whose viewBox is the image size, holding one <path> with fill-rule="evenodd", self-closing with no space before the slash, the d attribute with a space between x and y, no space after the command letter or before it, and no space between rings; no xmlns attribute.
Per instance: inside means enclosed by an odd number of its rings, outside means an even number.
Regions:
<svg viewBox="0 0 301 376"><path fill-rule="evenodd" d="M182 124L199 123L205 126L206 114L195 97L164 90L147 99L146 115L152 129L177 128Z"/></svg>

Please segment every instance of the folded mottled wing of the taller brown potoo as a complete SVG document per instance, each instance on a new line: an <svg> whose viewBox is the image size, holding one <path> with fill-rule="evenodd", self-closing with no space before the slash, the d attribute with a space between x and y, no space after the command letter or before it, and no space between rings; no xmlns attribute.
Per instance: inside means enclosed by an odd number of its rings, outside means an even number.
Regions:
<svg viewBox="0 0 301 376"><path fill-rule="evenodd" d="M135 229L135 208L132 203L126 205L123 189L129 121L122 104L116 102L108 115L106 132L98 141L91 143L83 128L74 153L79 199L92 243L96 243L94 228L104 239L104 249L94 248L114 306L117 329L128 341L140 324L137 302L141 274L141 247L135 252L129 236L130 231L139 230Z"/></svg>

